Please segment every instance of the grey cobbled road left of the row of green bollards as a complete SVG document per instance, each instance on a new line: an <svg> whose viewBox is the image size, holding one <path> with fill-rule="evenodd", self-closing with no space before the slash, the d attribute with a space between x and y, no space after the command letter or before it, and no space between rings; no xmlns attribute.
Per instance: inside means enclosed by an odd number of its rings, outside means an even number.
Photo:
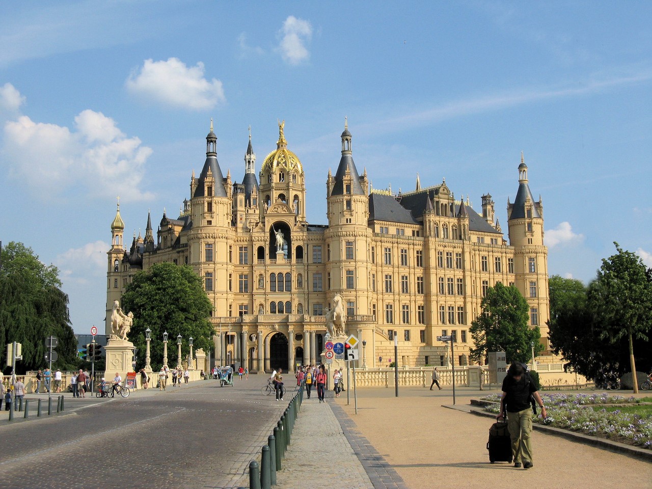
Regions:
<svg viewBox="0 0 652 489"><path fill-rule="evenodd" d="M0 488L233 488L247 485L286 402L263 396L265 378L234 387L200 381L73 400L60 415L0 418ZM4 414L4 412L3 412ZM18 418L22 413L16 413Z"/></svg>

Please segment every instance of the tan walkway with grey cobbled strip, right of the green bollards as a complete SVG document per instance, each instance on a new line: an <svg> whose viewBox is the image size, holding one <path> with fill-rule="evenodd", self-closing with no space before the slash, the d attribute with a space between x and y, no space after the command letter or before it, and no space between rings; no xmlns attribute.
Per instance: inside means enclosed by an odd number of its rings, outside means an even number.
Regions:
<svg viewBox="0 0 652 489"><path fill-rule="evenodd" d="M456 405L490 391L460 388ZM278 488L486 489L523 484L542 488L651 487L652 464L535 431L535 467L490 464L486 441L492 419L451 409L451 389L359 389L319 404L304 399Z"/></svg>

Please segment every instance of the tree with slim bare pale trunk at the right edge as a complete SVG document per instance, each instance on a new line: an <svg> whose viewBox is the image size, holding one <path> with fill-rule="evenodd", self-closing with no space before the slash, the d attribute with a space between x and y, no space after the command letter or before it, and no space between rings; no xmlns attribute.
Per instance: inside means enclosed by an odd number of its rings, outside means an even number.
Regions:
<svg viewBox="0 0 652 489"><path fill-rule="evenodd" d="M636 376L634 338L648 341L652 320L652 281L638 255L623 251L615 243L617 254L602 259L602 265L588 295L588 306L600 326L600 337L619 344L627 338L629 363ZM634 377L635 378L635 377ZM638 385L634 381L634 394Z"/></svg>

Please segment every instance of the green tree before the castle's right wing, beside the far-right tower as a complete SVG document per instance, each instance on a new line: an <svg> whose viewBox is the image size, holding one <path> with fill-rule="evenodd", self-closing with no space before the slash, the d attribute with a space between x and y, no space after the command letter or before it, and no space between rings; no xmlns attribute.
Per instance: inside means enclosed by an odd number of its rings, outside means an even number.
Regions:
<svg viewBox="0 0 652 489"><path fill-rule="evenodd" d="M535 352L542 351L538 326L528 326L529 305L516 287L498 282L482 299L482 313L473 320L469 331L473 347L471 359L480 361L489 351L505 351L509 361L527 363Z"/></svg>

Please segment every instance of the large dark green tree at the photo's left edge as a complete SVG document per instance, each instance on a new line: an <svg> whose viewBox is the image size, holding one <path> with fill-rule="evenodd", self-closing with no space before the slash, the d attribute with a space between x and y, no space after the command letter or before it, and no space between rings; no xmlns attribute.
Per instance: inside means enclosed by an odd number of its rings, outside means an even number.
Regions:
<svg viewBox="0 0 652 489"><path fill-rule="evenodd" d="M9 243L0 258L0 351L6 351L8 342L21 343L23 359L16 363L16 372L23 374L46 364L45 340L53 335L59 339L59 359L53 365L75 368L77 341L57 267L44 265L22 243Z"/></svg>

